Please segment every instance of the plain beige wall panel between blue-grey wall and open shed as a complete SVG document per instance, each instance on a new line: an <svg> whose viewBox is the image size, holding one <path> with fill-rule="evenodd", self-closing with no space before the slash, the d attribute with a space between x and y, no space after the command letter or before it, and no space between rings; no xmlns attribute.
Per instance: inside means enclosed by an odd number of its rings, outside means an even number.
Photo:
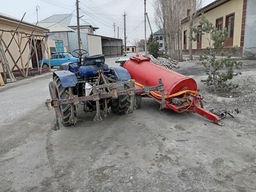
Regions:
<svg viewBox="0 0 256 192"><path fill-rule="evenodd" d="M94 35L87 35L88 40L88 52L90 56L95 54L102 54L101 37Z"/></svg>

